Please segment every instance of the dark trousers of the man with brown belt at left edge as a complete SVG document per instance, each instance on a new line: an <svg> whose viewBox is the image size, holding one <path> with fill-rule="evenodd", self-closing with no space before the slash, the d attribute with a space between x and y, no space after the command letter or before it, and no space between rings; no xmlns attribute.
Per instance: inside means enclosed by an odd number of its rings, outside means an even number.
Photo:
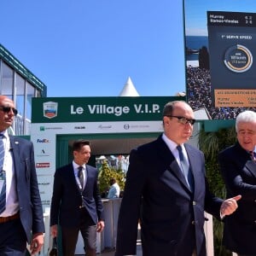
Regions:
<svg viewBox="0 0 256 256"><path fill-rule="evenodd" d="M0 224L0 255L26 255L26 233L19 218Z"/></svg>

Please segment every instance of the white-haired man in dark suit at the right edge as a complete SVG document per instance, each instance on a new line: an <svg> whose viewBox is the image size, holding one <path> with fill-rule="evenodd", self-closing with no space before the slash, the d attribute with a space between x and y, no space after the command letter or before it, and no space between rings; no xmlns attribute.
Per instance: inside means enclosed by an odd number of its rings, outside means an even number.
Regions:
<svg viewBox="0 0 256 256"><path fill-rule="evenodd" d="M224 245L239 255L256 255L256 113L236 117L237 143L219 154L227 196L241 195L237 211L224 218Z"/></svg>

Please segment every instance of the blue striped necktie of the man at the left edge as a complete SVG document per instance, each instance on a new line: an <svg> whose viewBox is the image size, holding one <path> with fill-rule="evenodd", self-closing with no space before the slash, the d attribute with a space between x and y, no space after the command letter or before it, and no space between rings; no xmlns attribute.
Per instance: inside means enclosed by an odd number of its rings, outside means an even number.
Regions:
<svg viewBox="0 0 256 256"><path fill-rule="evenodd" d="M6 176L3 171L4 160L4 146L3 146L3 134L0 135L0 179L2 180L2 190L0 194L0 213L5 210L6 205Z"/></svg>

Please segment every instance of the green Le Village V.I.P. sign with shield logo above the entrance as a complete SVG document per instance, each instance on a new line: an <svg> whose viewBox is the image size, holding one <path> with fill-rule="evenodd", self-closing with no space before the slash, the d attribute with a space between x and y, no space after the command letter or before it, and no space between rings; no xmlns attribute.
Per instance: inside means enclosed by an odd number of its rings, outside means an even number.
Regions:
<svg viewBox="0 0 256 256"><path fill-rule="evenodd" d="M32 123L160 120L167 102L181 96L50 97L32 99Z"/></svg>

